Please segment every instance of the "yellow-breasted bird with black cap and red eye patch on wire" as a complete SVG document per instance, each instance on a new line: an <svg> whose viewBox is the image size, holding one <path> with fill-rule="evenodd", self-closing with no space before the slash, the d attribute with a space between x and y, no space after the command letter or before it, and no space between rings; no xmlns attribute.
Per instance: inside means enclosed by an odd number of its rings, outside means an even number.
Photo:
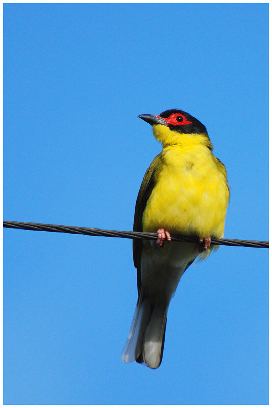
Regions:
<svg viewBox="0 0 272 408"><path fill-rule="evenodd" d="M138 300L122 361L156 369L163 355L167 312L185 270L205 259L222 238L229 203L224 164L213 155L206 127L189 113L144 114L162 151L147 169L135 205L133 230L157 232L157 241L133 239ZM171 234L197 237L171 241Z"/></svg>

